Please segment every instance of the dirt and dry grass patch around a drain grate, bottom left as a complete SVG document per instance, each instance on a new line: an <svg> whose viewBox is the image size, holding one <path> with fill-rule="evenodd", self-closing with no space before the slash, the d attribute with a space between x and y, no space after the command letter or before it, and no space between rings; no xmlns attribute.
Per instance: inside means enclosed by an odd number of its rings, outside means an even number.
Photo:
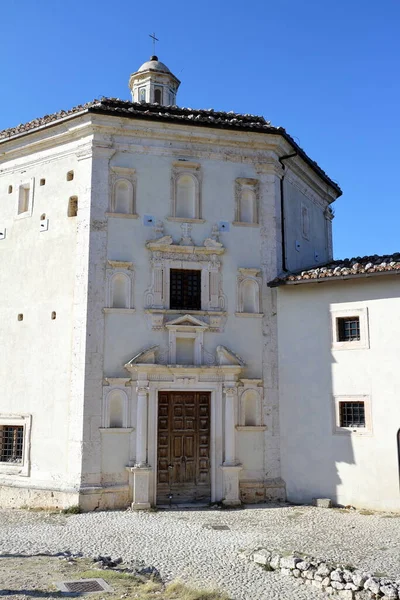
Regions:
<svg viewBox="0 0 400 600"><path fill-rule="evenodd" d="M76 598L80 594L58 591L56 582L75 579L104 579L113 592L85 594L98 600L228 600L215 592L193 590L180 582L165 587L159 581L121 570L97 569L93 560L55 556L0 555L0 597ZM82 595L82 597L84 597Z"/></svg>

